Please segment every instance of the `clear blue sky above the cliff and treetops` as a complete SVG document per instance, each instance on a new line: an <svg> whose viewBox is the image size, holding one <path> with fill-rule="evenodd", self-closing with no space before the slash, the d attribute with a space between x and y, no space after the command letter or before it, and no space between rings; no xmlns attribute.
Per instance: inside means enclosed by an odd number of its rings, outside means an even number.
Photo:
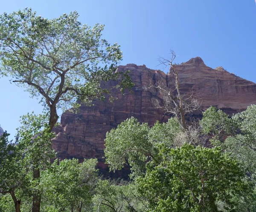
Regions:
<svg viewBox="0 0 256 212"><path fill-rule="evenodd" d="M255 0L0 0L0 14L25 7L47 18L76 10L82 23L105 24L103 37L121 45L122 65L159 69L157 58L172 48L176 63L199 56L256 82ZM0 92L0 125L14 138L19 117L42 107L7 78Z"/></svg>

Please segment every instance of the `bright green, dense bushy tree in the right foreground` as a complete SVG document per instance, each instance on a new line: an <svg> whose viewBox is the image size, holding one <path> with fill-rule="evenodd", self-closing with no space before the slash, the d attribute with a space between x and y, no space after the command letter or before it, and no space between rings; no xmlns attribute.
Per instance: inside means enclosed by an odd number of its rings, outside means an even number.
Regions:
<svg viewBox="0 0 256 212"><path fill-rule="evenodd" d="M149 211L218 211L216 201L227 210L236 210L235 195L251 192L243 182L236 160L220 149L184 144L180 148L163 147L163 161L147 164L145 178L136 182L149 201Z"/></svg>

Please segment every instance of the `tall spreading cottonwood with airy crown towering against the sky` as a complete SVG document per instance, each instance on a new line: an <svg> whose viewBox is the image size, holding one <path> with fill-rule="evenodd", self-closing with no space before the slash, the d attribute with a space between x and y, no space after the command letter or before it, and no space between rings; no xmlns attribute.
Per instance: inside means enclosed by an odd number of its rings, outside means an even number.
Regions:
<svg viewBox="0 0 256 212"><path fill-rule="evenodd" d="M121 78L121 89L133 85L127 73L115 72L122 52L102 38L104 26L90 28L78 17L75 11L47 19L32 9L0 15L0 75L40 98L49 112L49 132L58 108L104 99L109 90L102 82ZM38 192L33 202L33 212L40 211Z"/></svg>

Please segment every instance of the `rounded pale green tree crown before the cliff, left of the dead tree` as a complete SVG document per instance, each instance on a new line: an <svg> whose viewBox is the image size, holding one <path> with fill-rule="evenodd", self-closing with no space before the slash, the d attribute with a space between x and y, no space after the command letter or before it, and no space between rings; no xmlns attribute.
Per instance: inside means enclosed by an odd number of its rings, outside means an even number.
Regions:
<svg viewBox="0 0 256 212"><path fill-rule="evenodd" d="M118 170L129 163L136 175L145 172L145 163L153 149L148 141L148 132L148 124L140 124L134 117L107 132L105 157L110 169Z"/></svg>

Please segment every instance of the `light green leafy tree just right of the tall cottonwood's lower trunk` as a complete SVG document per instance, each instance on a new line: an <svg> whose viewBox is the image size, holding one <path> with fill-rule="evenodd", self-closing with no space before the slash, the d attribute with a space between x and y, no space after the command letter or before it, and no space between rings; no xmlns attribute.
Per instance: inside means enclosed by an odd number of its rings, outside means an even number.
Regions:
<svg viewBox="0 0 256 212"><path fill-rule="evenodd" d="M89 211L93 182L97 178L96 159L56 159L41 172L43 211Z"/></svg>

